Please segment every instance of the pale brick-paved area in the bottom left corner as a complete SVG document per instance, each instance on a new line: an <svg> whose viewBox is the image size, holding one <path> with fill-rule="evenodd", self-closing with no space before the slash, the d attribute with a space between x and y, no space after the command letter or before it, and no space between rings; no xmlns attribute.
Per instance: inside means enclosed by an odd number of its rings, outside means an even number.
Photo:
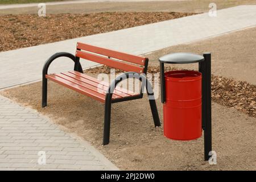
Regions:
<svg viewBox="0 0 256 182"><path fill-rule="evenodd" d="M46 164L38 164L39 151ZM0 96L0 170L117 170L84 141L60 130L35 110Z"/></svg>

